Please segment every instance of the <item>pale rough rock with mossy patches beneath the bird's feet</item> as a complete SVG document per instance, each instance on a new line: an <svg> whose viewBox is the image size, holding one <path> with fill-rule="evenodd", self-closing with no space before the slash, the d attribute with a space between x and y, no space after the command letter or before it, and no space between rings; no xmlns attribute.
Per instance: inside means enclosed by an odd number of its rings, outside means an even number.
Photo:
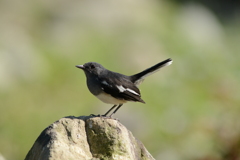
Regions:
<svg viewBox="0 0 240 160"><path fill-rule="evenodd" d="M130 131L114 119L65 117L47 127L25 160L153 160Z"/></svg>

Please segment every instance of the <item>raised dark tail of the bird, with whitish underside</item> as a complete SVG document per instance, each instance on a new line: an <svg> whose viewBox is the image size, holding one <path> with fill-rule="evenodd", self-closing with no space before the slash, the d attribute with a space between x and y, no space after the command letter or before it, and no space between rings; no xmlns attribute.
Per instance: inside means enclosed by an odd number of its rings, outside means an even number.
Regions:
<svg viewBox="0 0 240 160"><path fill-rule="evenodd" d="M132 76L130 76L131 81L135 84L135 85L139 85L145 77L159 71L160 68L165 67L165 66L169 66L170 64L172 64L172 59L166 59L140 73L134 74Z"/></svg>

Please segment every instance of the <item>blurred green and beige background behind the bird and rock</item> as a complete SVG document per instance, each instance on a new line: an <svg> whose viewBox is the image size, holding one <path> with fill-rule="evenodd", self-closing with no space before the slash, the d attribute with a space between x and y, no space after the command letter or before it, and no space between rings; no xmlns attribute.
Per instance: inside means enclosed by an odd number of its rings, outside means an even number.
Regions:
<svg viewBox="0 0 240 160"><path fill-rule="evenodd" d="M20 160L69 115L105 113L75 65L131 75L146 104L116 114L158 160L240 159L237 1L0 1L0 159Z"/></svg>

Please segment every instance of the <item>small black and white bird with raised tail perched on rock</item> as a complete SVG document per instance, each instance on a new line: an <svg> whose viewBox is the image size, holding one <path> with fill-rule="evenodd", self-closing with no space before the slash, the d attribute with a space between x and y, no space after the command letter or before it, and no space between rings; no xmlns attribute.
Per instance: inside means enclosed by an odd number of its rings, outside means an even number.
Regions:
<svg viewBox="0 0 240 160"><path fill-rule="evenodd" d="M84 65L76 65L76 67L84 71L89 91L102 102L113 105L101 116L108 117L108 114L116 108L109 116L112 118L128 101L145 103L141 98L138 86L146 77L159 71L162 67L169 66L172 62L172 59L168 58L131 76L110 71L96 62L88 62Z"/></svg>

